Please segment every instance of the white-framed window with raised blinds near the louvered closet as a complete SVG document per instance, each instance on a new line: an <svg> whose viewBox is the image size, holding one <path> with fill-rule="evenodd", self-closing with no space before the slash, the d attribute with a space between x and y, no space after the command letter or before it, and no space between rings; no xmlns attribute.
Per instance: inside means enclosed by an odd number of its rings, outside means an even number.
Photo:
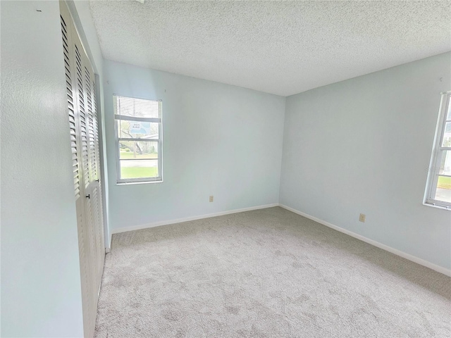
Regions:
<svg viewBox="0 0 451 338"><path fill-rule="evenodd" d="M163 181L162 102L113 95L117 182Z"/></svg>

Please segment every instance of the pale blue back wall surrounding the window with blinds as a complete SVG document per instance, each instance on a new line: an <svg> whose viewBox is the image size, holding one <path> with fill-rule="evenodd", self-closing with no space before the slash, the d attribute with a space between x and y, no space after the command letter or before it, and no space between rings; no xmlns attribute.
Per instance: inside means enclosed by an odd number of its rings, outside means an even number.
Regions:
<svg viewBox="0 0 451 338"><path fill-rule="evenodd" d="M278 203L285 98L105 61L106 150L113 94L163 100L163 182L116 185L111 230ZM214 202L209 203L209 195Z"/></svg>

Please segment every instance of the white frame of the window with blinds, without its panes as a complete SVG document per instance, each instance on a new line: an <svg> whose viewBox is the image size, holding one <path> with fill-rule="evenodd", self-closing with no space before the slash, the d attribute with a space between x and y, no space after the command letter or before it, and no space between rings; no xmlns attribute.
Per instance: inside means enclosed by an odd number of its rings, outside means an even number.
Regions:
<svg viewBox="0 0 451 338"><path fill-rule="evenodd" d="M135 96L125 96L119 94L113 94L113 100L116 96L127 97L130 99L141 99L141 100L149 100L149 101L159 101L161 104L161 99L148 99L142 97ZM126 116L123 120L136 120L142 122L151 122L151 123L159 123L159 138L149 140L149 142L158 142L158 169L159 176L158 177L142 177L142 178L121 178L121 151L119 147L119 131L118 131L118 123L116 118L118 114L116 111L113 112L114 119L114 137L115 137L115 146L116 146L116 185L128 185L128 184L146 184L146 183L161 183L163 182L163 115L161 115L161 120L158 118L135 118L132 116ZM131 139L133 140L133 139ZM141 139L140 141L147 142L146 139Z"/></svg>

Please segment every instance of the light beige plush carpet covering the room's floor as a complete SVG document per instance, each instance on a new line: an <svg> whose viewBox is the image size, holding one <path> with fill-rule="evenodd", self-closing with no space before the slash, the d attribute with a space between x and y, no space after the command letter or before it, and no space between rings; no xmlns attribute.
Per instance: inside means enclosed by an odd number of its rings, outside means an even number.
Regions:
<svg viewBox="0 0 451 338"><path fill-rule="evenodd" d="M450 337L451 279L282 208L113 236L97 337Z"/></svg>

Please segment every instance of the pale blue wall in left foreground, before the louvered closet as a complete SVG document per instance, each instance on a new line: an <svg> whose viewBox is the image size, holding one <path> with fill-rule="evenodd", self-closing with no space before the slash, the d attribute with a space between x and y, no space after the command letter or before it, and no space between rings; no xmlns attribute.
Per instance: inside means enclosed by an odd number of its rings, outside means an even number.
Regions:
<svg viewBox="0 0 451 338"><path fill-rule="evenodd" d="M83 334L64 83L58 1L1 1L2 337Z"/></svg>

